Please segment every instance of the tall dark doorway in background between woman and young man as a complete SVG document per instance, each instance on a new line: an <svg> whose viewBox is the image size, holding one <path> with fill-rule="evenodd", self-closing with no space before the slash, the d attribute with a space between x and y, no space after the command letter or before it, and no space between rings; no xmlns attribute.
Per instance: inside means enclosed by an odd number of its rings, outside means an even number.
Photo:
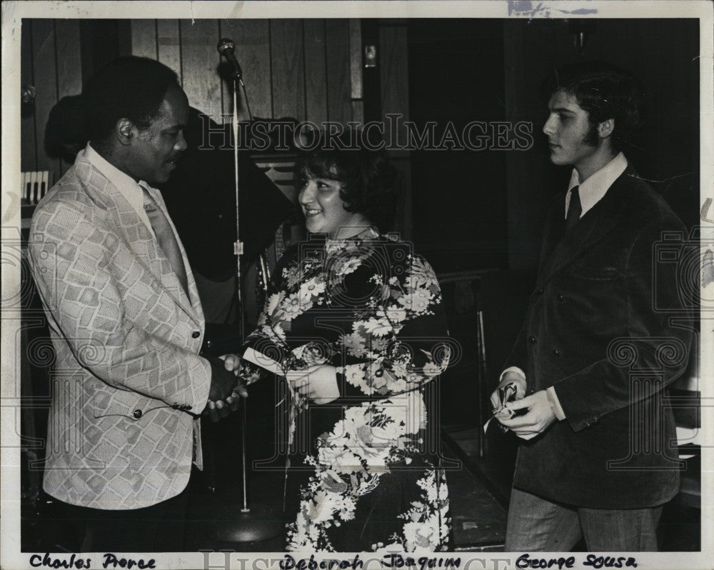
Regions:
<svg viewBox="0 0 714 570"><path fill-rule="evenodd" d="M494 151L491 136L505 118L503 22L413 19L408 28L410 119L420 132L435 121L433 141L448 147L412 153L416 249L437 272L505 267L508 151ZM461 137L473 121L486 128L473 128L471 143L486 148L448 143L447 129Z"/></svg>

